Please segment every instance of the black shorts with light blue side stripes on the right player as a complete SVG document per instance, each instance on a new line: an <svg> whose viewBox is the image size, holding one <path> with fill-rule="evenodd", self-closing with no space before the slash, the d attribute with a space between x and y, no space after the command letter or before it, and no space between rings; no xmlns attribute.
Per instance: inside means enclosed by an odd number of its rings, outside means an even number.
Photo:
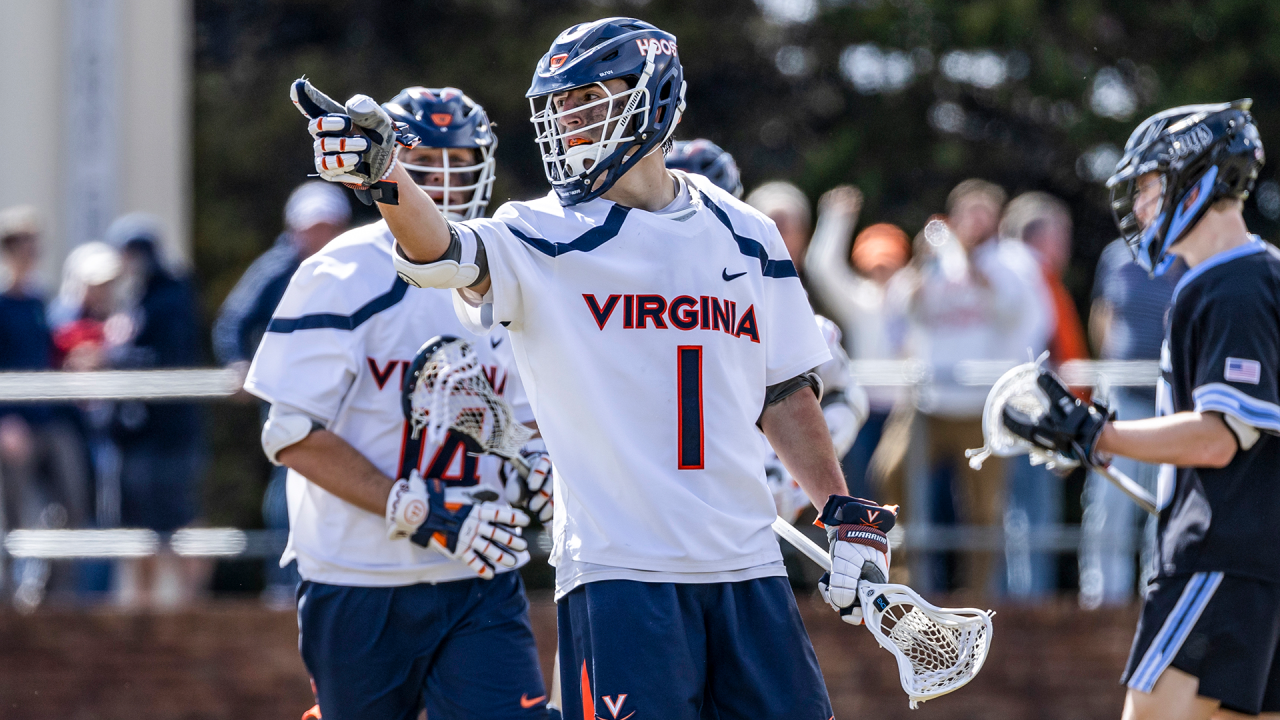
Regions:
<svg viewBox="0 0 1280 720"><path fill-rule="evenodd" d="M1228 710L1280 711L1280 585L1222 573L1157 578L1124 682L1149 693L1166 667L1198 678L1198 694Z"/></svg>

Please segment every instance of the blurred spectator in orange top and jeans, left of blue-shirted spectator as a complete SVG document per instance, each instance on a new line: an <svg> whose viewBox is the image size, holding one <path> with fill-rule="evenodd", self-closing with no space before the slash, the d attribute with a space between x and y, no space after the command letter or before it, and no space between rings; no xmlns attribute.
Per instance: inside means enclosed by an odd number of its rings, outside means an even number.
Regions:
<svg viewBox="0 0 1280 720"><path fill-rule="evenodd" d="M1024 242L1039 264L1050 302L1050 364L1060 366L1069 360L1088 359L1079 311L1062 284L1071 261L1070 209L1046 192L1024 192L1005 209L1000 234ZM1032 465L1029 457L1012 457L1006 464L1010 488L1005 519L1010 537L1016 538L1021 528L1030 532L1061 523L1062 479L1043 466ZM1044 597L1056 589L1056 553L1032 552L1011 544L1005 561L1010 594Z"/></svg>

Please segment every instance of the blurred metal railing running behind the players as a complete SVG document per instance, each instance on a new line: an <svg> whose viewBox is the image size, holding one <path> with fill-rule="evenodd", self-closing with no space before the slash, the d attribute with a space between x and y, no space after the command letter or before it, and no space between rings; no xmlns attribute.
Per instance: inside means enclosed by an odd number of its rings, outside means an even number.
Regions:
<svg viewBox="0 0 1280 720"><path fill-rule="evenodd" d="M919 388L928 384L989 387L1014 364L1009 361L963 361L936 370L916 361L855 360L855 380L869 387ZM1070 361L1060 368L1073 386L1112 388L1151 387L1160 377L1153 361ZM239 392L241 377L233 369L110 370L91 373L0 373L0 411L4 404L74 402L104 400L227 400ZM922 423L915 423L911 445L923 446ZM960 460L963 461L963 460ZM1070 552L1082 543L1078 525L1041 525L1010 533L1004 528L936 525L929 521L932 492L929 468L920 452L909 452L906 468L906 518L891 533L895 548L913 550L911 564L929 552L995 551L1016 543L1019 552ZM200 557L271 557L284 547L279 530L192 528L170 534L141 529L102 530L12 530L0 552L10 557L84 559L137 557L161 551ZM532 548L545 553L549 538L536 534ZM913 573L914 575L914 573ZM920 588L925 589L925 588Z"/></svg>

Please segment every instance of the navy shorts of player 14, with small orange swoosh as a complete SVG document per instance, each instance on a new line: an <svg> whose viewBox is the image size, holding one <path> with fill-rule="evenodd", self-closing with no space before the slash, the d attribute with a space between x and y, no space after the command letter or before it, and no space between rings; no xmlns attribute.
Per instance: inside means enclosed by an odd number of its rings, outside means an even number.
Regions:
<svg viewBox="0 0 1280 720"><path fill-rule="evenodd" d="M520 573L393 588L298 585L324 720L547 717Z"/></svg>

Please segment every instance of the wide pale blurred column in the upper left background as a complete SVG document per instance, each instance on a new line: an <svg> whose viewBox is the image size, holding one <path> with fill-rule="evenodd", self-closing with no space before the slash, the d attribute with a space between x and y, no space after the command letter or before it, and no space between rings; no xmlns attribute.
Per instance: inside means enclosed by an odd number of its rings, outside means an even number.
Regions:
<svg viewBox="0 0 1280 720"><path fill-rule="evenodd" d="M0 97L15 142L0 208L35 205L42 272L111 219L159 215L191 261L192 0L0 0Z"/></svg>

